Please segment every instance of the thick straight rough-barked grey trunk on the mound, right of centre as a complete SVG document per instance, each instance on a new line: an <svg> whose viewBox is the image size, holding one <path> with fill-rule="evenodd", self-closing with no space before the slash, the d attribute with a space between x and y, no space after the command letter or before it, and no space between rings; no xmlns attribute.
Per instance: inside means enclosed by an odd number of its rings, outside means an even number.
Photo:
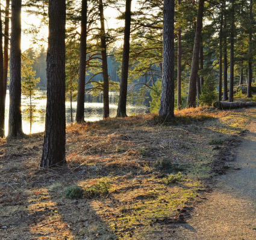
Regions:
<svg viewBox="0 0 256 240"><path fill-rule="evenodd" d="M159 116L174 116L174 0L164 0L163 8L163 82Z"/></svg>

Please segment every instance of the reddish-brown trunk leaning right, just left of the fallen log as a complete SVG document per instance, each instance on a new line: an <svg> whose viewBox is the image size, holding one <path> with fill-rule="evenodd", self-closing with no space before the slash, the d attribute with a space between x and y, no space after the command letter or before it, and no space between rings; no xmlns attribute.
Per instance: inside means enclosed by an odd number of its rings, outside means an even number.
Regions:
<svg viewBox="0 0 256 240"><path fill-rule="evenodd" d="M196 78L198 77L198 68L199 68L198 63L199 63L199 50L200 50L200 42L201 42L203 13L204 13L204 0L199 0L198 16L196 20L196 35L195 35L192 67L190 71L190 80L189 80L189 95L187 96L187 107L196 106Z"/></svg>

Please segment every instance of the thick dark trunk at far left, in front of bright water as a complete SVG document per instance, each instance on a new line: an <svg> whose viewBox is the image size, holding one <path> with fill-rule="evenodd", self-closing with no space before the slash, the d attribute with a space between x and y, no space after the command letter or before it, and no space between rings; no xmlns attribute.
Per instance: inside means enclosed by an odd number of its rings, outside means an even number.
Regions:
<svg viewBox="0 0 256 240"><path fill-rule="evenodd" d="M21 0L11 2L9 137L23 134L21 118Z"/></svg>

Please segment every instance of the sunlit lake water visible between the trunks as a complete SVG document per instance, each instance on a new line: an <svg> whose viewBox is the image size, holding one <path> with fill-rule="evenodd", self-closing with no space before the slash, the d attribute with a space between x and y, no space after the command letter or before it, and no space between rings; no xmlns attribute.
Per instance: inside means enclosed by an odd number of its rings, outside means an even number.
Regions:
<svg viewBox="0 0 256 240"><path fill-rule="evenodd" d="M38 91L37 97L39 99L33 100L36 112L33 113L35 118L32 124L31 133L40 133L45 131L45 112L46 112L46 91ZM110 117L116 116L118 94L116 92L110 92ZM5 102L5 135L8 133L8 115L9 115L9 92L7 91ZM22 129L26 134L30 133L30 119L27 115L26 109L29 107L29 100L22 96ZM98 97L86 94L84 98L85 107L85 120L86 121L99 121L103 117L103 96ZM70 101L66 101L66 124L70 124ZM72 101L73 121L75 121L76 114L76 101ZM146 102L145 106L136 106L135 104L128 104L128 115L139 115L149 112L149 103Z"/></svg>

